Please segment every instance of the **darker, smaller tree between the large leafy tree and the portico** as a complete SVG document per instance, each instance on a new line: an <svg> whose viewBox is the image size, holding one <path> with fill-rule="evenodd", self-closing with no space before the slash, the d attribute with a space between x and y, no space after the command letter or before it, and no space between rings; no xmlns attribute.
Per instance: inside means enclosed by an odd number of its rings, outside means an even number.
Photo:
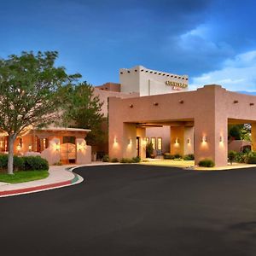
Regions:
<svg viewBox="0 0 256 256"><path fill-rule="evenodd" d="M65 95L63 124L90 129L91 132L86 137L89 144L102 142L104 140L102 131L103 102L100 101L99 96L94 95L93 86L86 82L77 85L70 84L63 95Z"/></svg>

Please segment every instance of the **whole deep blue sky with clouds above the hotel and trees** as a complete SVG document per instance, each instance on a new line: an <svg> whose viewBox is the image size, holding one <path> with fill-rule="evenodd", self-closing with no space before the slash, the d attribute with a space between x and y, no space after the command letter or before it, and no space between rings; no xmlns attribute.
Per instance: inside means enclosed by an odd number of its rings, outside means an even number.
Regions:
<svg viewBox="0 0 256 256"><path fill-rule="evenodd" d="M0 57L56 50L94 85L142 65L256 91L255 25L255 0L0 0Z"/></svg>

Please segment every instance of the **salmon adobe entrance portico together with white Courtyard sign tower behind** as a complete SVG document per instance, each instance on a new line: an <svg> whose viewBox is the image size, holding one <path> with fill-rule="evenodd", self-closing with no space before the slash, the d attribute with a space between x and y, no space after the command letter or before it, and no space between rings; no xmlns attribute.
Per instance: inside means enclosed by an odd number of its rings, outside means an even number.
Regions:
<svg viewBox="0 0 256 256"><path fill-rule="evenodd" d="M120 69L119 76L120 93L132 96L108 99L111 158L145 158L146 133L153 129L148 128L161 126L169 131L169 152L194 153L195 165L205 158L214 160L216 166L227 165L228 124L252 124L256 149L256 96L216 84L189 91L187 76L142 66Z"/></svg>

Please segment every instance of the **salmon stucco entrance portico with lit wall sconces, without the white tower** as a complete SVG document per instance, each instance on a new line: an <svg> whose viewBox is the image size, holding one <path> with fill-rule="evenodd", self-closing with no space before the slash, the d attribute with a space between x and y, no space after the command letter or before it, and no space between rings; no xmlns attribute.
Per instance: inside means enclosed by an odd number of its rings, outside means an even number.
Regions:
<svg viewBox="0 0 256 256"><path fill-rule="evenodd" d="M194 143L195 164L210 158L216 166L227 165L228 123L251 123L253 149L256 149L256 96L227 91L220 85L131 99L111 97L108 109L111 158L135 157L137 128L147 124L170 125L171 151L177 150L172 149L176 137L176 143L180 143L179 154L185 154L182 144L188 143L186 129L193 127L194 137L189 143Z"/></svg>

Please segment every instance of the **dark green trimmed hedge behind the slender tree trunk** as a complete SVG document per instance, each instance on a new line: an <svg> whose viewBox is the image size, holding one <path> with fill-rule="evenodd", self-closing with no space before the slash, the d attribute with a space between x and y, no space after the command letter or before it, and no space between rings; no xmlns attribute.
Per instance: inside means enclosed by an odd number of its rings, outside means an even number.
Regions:
<svg viewBox="0 0 256 256"><path fill-rule="evenodd" d="M0 154L0 169L8 168L8 154ZM48 161L40 156L14 156L15 171L48 171Z"/></svg>

